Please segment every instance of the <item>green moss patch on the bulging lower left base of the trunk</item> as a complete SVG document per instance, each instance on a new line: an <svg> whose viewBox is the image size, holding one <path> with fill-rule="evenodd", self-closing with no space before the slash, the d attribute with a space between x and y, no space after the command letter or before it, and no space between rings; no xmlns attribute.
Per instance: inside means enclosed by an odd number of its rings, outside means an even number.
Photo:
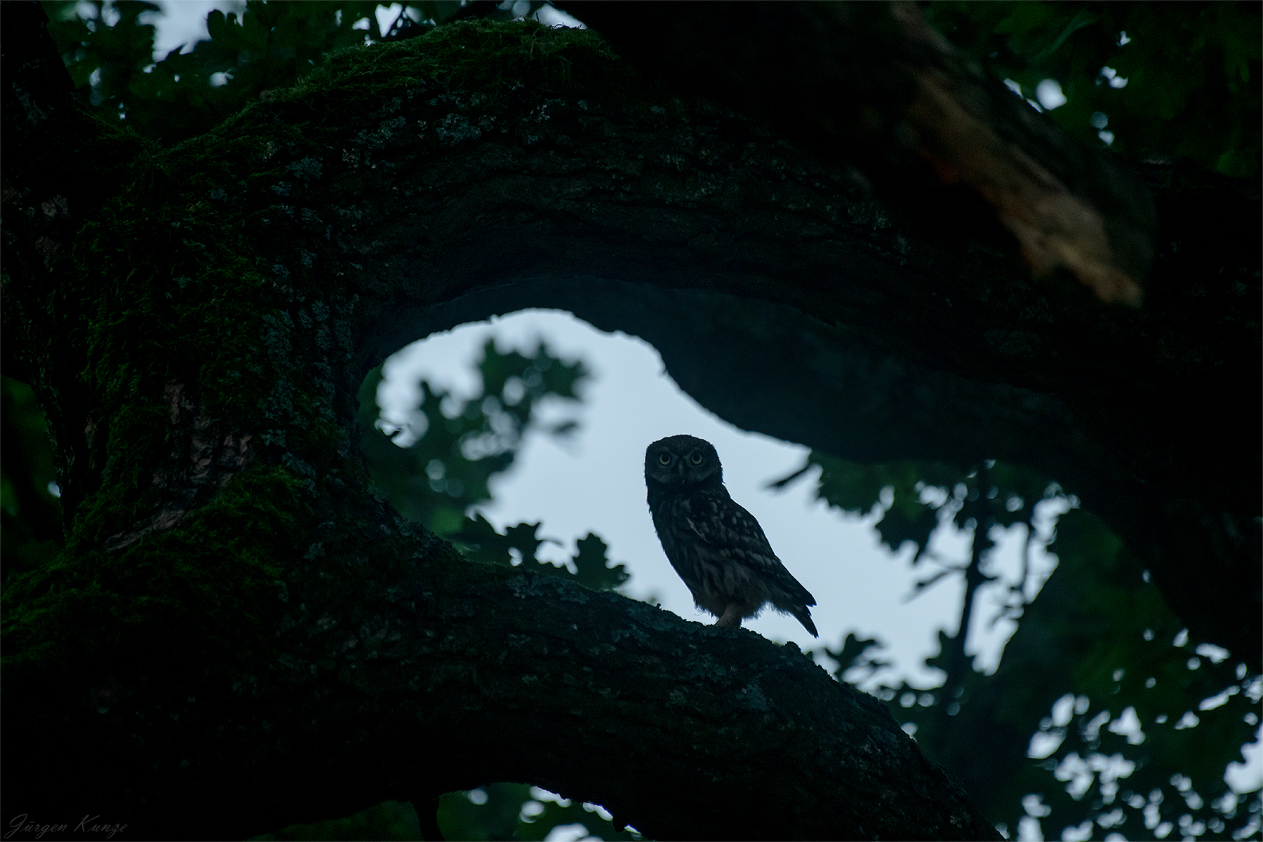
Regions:
<svg viewBox="0 0 1263 842"><path fill-rule="evenodd" d="M273 636L280 577L311 513L297 477L254 470L179 528L117 552L69 548L6 588L4 636L16 654L5 669L240 664Z"/></svg>

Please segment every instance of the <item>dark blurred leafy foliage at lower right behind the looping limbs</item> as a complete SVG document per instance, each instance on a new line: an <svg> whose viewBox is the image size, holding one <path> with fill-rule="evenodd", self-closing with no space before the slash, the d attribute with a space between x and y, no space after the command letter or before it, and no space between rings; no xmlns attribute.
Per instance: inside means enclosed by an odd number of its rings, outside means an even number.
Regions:
<svg viewBox="0 0 1263 842"><path fill-rule="evenodd" d="M940 651L926 660L941 670L942 683L882 680L889 670L875 639L849 634L823 654L840 680L873 687L999 824L1017 831L1024 818L1039 822L1046 834L1116 828L1127 838L1164 838L1175 827L1242 838L1257 826L1259 793L1234 793L1224 773L1243 761L1240 749L1254 738L1263 683L1230 653L1190 640L1148 573L1081 509L1057 519L1048 544L1057 567L1046 582L1033 581L1036 505L1077 506L1056 483L994 462L962 473L813 453L774 485L812 468L820 471L821 499L854 514L880 506L882 543L892 552L912 544L911 563L936 568L913 596L962 574L957 629L940 631ZM1018 629L988 674L966 655L965 632L984 610L975 600L979 588L997 578L994 530L1014 525L1027 535L1027 566L986 621L1012 619ZM937 528L967 531L969 557L932 553Z"/></svg>

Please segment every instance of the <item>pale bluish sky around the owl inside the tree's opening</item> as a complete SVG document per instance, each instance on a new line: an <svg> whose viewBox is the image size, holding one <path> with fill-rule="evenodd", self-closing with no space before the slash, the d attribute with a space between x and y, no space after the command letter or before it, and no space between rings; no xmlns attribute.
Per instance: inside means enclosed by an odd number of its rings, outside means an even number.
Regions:
<svg viewBox="0 0 1263 842"><path fill-rule="evenodd" d="M595 531L610 545L611 558L628 566L630 595L654 596L686 620L711 622L710 615L693 607L662 552L644 487L644 448L650 442L677 433L698 436L719 451L733 497L758 518L772 548L820 603L812 608L818 641L777 612L765 612L746 627L770 640L793 640L802 649L836 649L846 631L878 636L889 644L902 674L933 683L933 670L922 661L937 649L938 629L956 630L961 577L946 577L908 600L913 582L932 569L927 563L916 569L908 564L911 545L892 555L878 544L875 513L859 518L830 510L811 494L806 477L784 491L767 489L769 481L797 470L807 448L740 430L702 409L666 376L658 352L639 338L597 331L560 311L525 311L433 335L386 361L386 380L379 390L385 415L404 420L421 377L471 394L477 385L474 361L489 336L501 350L523 351L534 347L536 337L544 337L554 353L584 359L594 376L581 404L557 401L549 413L573 415L577 433L565 442L529 436L518 462L493 485L494 500L481 509L488 520L501 529L542 520L539 534L563 542L541 548L541 557L554 562L573 554L577 538ZM1024 528L1013 528L997 550L997 567L1010 577L1021 569L1023 540ZM935 548L965 560L967 535L940 529ZM1042 582L1053 559L1037 553L1036 566ZM971 649L980 651L988 668L994 668L1013 631L1008 621L990 626L1002 587L997 583L981 591L971 629Z"/></svg>

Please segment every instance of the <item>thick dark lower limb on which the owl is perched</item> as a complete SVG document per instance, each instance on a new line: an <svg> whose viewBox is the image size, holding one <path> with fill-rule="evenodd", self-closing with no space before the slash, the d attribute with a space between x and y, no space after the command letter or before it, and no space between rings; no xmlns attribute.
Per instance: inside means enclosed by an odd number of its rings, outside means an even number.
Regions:
<svg viewBox="0 0 1263 842"><path fill-rule="evenodd" d="M338 558L359 572L344 579L354 596L296 610L264 674L187 699L187 680L95 684L95 722L62 722L54 745L110 757L109 774L45 788L66 757L25 755L6 808L92 809L136 838L232 838L418 788L528 780L653 838L995 838L884 706L793 646L450 559L383 593L371 573L389 566L365 550ZM150 706L176 722L145 723ZM128 731L169 747L114 745Z"/></svg>

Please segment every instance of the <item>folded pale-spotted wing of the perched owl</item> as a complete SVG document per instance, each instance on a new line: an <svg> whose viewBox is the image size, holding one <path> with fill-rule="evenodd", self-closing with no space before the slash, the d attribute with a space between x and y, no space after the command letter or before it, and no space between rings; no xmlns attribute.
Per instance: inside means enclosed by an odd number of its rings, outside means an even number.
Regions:
<svg viewBox="0 0 1263 842"><path fill-rule="evenodd" d="M682 500L679 507L688 530L716 555L754 568L803 605L816 605L777 558L759 521L730 496L707 489Z"/></svg>

